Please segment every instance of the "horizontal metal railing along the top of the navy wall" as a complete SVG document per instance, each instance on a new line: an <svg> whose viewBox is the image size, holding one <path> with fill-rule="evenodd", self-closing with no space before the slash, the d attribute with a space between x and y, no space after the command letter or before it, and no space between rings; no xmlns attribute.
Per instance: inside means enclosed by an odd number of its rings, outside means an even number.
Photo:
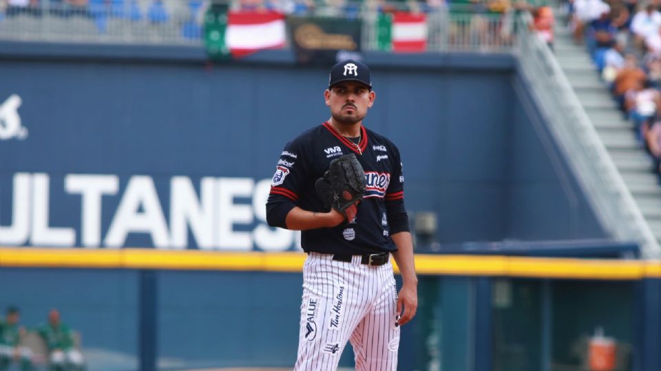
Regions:
<svg viewBox="0 0 661 371"><path fill-rule="evenodd" d="M208 2L182 0L155 8L154 3L124 0L120 5L115 5L114 1L90 0L85 6L74 7L66 3L43 0L39 5L30 8L8 7L0 9L0 40L202 45L204 11L209 6ZM237 9L237 4L227 3L227 8ZM421 6L415 1L378 5L374 1L344 1L342 5L335 7L317 5L315 8L296 10L281 6L275 9L297 16L335 16L349 19L359 17L363 21L364 50L379 49L377 18L384 10L407 10L426 14L426 50L431 52L509 52L514 40L513 11L496 14L474 8Z"/></svg>

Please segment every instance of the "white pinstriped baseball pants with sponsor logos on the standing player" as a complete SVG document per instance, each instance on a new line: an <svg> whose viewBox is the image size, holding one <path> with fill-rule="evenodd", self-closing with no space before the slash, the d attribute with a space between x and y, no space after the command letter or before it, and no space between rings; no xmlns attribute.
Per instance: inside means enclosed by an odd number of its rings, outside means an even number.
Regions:
<svg viewBox="0 0 661 371"><path fill-rule="evenodd" d="M390 262L370 267L310 253L303 267L295 371L335 371L347 341L358 371L396 371L397 287Z"/></svg>

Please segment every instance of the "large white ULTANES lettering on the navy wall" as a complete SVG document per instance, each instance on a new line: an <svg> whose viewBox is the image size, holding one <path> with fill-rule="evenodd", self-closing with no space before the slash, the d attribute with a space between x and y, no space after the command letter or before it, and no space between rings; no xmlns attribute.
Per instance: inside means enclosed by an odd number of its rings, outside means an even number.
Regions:
<svg viewBox="0 0 661 371"><path fill-rule="evenodd" d="M119 248L127 247L129 234L146 234L158 249L185 249L190 231L198 249L204 250L300 248L300 233L266 224L271 179L204 177L198 194L189 177L171 177L168 210L162 207L154 179L145 175L130 177L123 189L118 175L68 174L64 184L51 187L48 174L19 172L12 183L11 209L8 205L2 209L12 215L11 223L0 225L3 246ZM65 211L79 212L81 223L53 227L62 223L50 220L50 198L70 199L67 195L80 197L80 210L74 203ZM103 232L105 197L118 197L119 202Z"/></svg>

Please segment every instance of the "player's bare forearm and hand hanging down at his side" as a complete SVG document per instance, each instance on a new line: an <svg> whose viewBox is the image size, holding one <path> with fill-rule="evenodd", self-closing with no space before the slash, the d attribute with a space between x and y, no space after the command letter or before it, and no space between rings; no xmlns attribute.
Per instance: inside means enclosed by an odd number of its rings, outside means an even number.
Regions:
<svg viewBox="0 0 661 371"><path fill-rule="evenodd" d="M397 313L400 315L397 323L401 326L409 322L418 309L418 277L415 273L411 233L399 232L391 237L397 245L397 251L393 252L392 256L397 262L403 282L397 295Z"/></svg>

